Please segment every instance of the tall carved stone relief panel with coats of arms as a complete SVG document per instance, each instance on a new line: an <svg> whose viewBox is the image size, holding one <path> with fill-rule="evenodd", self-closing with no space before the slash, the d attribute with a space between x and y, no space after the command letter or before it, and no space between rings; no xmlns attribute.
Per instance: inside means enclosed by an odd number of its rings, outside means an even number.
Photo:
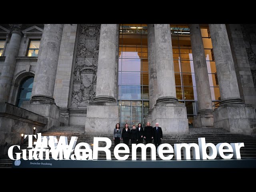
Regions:
<svg viewBox="0 0 256 192"><path fill-rule="evenodd" d="M71 108L86 108L96 93L100 24L80 24Z"/></svg>

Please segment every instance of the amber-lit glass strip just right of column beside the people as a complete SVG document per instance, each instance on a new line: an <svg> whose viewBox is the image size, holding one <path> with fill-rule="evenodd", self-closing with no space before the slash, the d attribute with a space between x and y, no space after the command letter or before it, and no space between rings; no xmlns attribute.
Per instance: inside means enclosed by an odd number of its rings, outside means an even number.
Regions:
<svg viewBox="0 0 256 192"><path fill-rule="evenodd" d="M188 124L193 126L194 115L198 110L196 79L188 26L170 25L172 36L172 52L176 97L179 102L185 103Z"/></svg>

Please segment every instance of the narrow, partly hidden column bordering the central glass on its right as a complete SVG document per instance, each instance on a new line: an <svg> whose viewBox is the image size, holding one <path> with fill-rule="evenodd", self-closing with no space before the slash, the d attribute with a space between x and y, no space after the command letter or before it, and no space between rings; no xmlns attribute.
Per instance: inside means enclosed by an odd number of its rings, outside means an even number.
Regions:
<svg viewBox="0 0 256 192"><path fill-rule="evenodd" d="M148 83L149 110L147 122L152 122L152 109L156 104L158 86L156 78L156 45L154 24L148 24Z"/></svg>

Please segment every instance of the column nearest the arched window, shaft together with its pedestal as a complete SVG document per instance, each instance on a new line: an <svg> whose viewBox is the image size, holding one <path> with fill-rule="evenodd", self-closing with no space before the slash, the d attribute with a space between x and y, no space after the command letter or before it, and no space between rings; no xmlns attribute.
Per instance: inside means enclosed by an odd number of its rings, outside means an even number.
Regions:
<svg viewBox="0 0 256 192"><path fill-rule="evenodd" d="M60 109L53 98L64 24L44 24L30 102L22 108L48 118L47 130L60 124Z"/></svg>

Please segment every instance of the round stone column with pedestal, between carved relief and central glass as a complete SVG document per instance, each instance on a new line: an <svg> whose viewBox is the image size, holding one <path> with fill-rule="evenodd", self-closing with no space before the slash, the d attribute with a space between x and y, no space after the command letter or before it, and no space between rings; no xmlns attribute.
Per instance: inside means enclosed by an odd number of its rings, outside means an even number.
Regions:
<svg viewBox="0 0 256 192"><path fill-rule="evenodd" d="M112 133L120 121L116 103L118 25L101 24L96 97L87 107L86 133Z"/></svg>

